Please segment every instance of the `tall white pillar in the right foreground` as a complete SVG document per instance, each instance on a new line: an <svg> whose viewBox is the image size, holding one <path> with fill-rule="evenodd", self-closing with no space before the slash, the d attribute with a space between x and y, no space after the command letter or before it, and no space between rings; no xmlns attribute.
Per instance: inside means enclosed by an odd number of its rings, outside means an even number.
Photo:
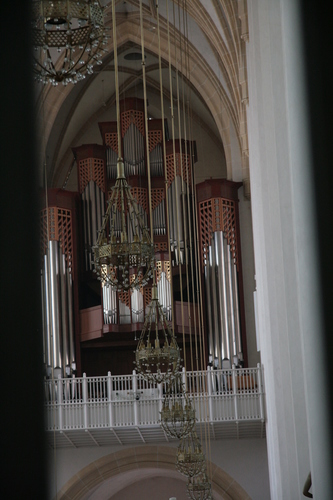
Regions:
<svg viewBox="0 0 333 500"><path fill-rule="evenodd" d="M296 0L251 0L249 159L272 500L332 496L319 277Z"/></svg>

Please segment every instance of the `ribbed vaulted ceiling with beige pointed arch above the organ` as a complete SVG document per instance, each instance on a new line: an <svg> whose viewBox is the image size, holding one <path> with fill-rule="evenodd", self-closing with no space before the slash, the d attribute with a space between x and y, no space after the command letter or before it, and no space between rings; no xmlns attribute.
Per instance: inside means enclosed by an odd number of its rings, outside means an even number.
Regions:
<svg viewBox="0 0 333 500"><path fill-rule="evenodd" d="M76 189L71 148L101 143L97 122L115 119L111 1L101 4L111 34L103 64L76 85L36 84L41 179L46 165L49 187ZM158 7L143 0L142 8L149 116L161 118L160 54L165 117L170 128L172 96L181 117L175 136L197 142L197 181L246 181L246 0L160 0ZM139 0L116 1L116 22L120 98L142 97L141 58L133 56L141 55Z"/></svg>

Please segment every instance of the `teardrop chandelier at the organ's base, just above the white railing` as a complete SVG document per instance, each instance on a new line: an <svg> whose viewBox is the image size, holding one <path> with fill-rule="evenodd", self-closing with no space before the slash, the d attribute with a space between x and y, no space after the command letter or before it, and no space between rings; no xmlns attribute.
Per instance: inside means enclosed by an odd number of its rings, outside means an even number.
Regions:
<svg viewBox="0 0 333 500"><path fill-rule="evenodd" d="M158 301L155 283L149 312L135 351L135 364L146 380L156 384L169 382L179 371L179 347Z"/></svg>

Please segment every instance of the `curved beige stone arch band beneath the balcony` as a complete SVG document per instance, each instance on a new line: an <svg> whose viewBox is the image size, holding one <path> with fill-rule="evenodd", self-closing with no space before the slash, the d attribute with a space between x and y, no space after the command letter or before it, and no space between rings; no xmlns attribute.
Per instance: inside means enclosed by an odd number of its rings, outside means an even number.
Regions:
<svg viewBox="0 0 333 500"><path fill-rule="evenodd" d="M117 477L138 477L138 470L145 477L154 477L156 473L170 478L178 474L175 470L176 448L168 446L137 446L126 448L106 455L75 474L58 492L58 500L80 500L89 498L89 493L97 491L104 482L116 484ZM214 498L223 500L250 500L246 491L229 474L212 462L211 482ZM147 471L147 472L145 472ZM186 479L183 478L184 482ZM112 484L110 482L110 484ZM118 489L119 492L119 489Z"/></svg>

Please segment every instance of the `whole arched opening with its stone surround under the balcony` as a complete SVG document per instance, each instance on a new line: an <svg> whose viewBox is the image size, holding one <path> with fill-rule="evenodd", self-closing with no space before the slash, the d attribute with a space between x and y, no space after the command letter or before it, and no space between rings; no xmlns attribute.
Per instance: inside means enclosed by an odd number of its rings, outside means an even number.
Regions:
<svg viewBox="0 0 333 500"><path fill-rule="evenodd" d="M58 500L186 500L186 478L175 470L176 448L138 446L106 455L81 469L61 489ZM246 491L229 474L208 462L214 500L245 500ZM155 495L155 496L153 496Z"/></svg>

